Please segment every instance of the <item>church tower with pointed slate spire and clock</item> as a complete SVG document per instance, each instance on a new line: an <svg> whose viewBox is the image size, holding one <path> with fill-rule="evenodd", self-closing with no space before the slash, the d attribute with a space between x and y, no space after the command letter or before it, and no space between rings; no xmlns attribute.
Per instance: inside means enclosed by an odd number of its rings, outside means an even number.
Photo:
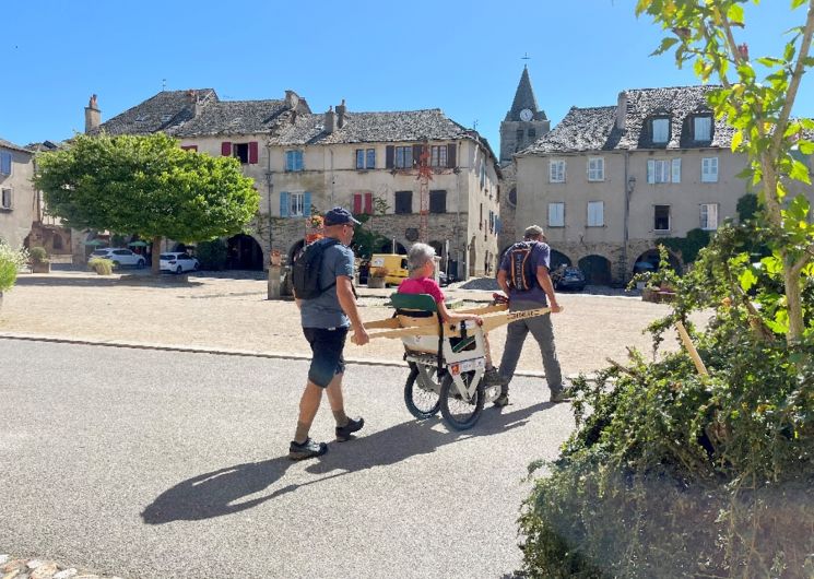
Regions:
<svg viewBox="0 0 814 579"><path fill-rule="evenodd" d="M500 122L500 168L503 178L500 189L500 235L498 247L500 253L517 240L515 228L517 211L517 166L516 153L532 145L551 130L551 122L545 111L538 106L534 91L531 87L529 70L523 67L520 82L515 91L511 108Z"/></svg>

